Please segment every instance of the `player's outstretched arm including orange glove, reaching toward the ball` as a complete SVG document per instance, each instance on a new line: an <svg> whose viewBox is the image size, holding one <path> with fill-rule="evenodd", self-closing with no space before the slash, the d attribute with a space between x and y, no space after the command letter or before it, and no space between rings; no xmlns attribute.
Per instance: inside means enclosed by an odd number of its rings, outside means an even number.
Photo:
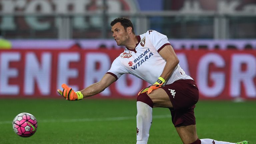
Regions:
<svg viewBox="0 0 256 144"><path fill-rule="evenodd" d="M66 100L80 100L84 97L93 96L104 91L105 88L107 88L110 84L112 84L115 81L116 78L114 76L112 76L111 74L105 74L99 82L94 83L81 91L75 92L66 84L61 85L63 90L58 89L57 91Z"/></svg>

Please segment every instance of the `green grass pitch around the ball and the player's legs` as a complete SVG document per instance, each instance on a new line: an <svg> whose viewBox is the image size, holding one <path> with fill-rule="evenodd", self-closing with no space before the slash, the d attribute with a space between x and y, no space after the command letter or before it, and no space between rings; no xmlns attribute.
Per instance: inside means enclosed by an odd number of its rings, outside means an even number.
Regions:
<svg viewBox="0 0 256 144"><path fill-rule="evenodd" d="M37 118L32 137L12 130L21 112ZM199 101L195 115L201 139L256 143L255 101ZM135 144L136 100L0 99L0 128L1 144ZM168 109L153 109L148 143L182 144Z"/></svg>

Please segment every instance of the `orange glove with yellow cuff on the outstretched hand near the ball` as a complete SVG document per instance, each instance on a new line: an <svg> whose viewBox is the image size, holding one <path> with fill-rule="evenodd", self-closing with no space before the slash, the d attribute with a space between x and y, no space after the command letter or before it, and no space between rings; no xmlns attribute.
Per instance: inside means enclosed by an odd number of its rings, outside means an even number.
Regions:
<svg viewBox="0 0 256 144"><path fill-rule="evenodd" d="M80 100L83 99L84 96L80 91L75 92L72 88L68 87L66 84L62 84L61 87L63 91L57 90L57 92L62 95L66 100Z"/></svg>

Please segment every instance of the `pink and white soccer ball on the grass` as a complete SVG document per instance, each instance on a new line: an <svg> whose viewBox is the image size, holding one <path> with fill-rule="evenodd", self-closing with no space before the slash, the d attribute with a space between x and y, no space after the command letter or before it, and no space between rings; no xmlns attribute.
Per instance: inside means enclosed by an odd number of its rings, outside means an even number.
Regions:
<svg viewBox="0 0 256 144"><path fill-rule="evenodd" d="M37 120L30 113L20 113L13 119L12 128L18 136L30 137L36 132Z"/></svg>

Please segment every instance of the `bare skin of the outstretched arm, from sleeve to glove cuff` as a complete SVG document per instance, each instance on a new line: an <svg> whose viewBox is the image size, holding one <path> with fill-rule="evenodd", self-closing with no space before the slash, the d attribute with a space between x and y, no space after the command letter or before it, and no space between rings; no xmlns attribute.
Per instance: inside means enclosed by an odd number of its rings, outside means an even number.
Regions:
<svg viewBox="0 0 256 144"><path fill-rule="evenodd" d="M114 76L111 74L105 74L99 82L88 86L87 88L81 90L81 92L84 97L93 96L104 91L105 88L107 88L115 81L116 78Z"/></svg>

